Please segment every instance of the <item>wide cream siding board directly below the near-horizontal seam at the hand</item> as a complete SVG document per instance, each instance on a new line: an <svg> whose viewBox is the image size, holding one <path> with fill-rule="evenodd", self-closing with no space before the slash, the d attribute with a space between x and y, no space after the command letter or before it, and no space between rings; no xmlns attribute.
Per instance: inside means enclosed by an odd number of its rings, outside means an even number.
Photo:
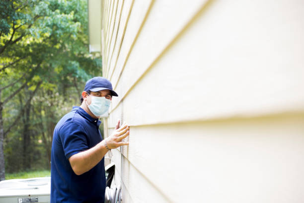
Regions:
<svg viewBox="0 0 304 203"><path fill-rule="evenodd" d="M303 123L302 114L131 127L122 177L134 166L176 203L302 203Z"/></svg>

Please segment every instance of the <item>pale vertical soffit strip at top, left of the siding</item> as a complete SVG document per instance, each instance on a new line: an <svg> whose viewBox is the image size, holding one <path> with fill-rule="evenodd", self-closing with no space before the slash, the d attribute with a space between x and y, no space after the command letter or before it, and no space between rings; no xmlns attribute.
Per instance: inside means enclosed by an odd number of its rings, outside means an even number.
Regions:
<svg viewBox="0 0 304 203"><path fill-rule="evenodd" d="M87 0L89 52L101 51L101 0Z"/></svg>

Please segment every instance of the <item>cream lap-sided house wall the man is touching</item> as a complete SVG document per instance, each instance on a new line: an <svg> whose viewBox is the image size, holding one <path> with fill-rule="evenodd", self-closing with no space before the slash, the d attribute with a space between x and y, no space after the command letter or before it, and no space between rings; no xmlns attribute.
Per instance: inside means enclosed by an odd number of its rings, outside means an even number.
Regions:
<svg viewBox="0 0 304 203"><path fill-rule="evenodd" d="M103 0L124 203L304 199L302 0ZM96 30L97 32L99 30Z"/></svg>

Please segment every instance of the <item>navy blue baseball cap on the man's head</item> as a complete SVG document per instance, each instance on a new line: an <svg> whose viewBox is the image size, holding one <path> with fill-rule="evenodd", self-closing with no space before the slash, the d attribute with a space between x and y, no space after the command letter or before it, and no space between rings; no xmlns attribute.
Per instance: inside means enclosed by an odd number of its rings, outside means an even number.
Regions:
<svg viewBox="0 0 304 203"><path fill-rule="evenodd" d="M117 93L113 91L111 82L104 77L94 77L86 81L83 91L98 92L101 90L109 90L112 96L118 97Z"/></svg>

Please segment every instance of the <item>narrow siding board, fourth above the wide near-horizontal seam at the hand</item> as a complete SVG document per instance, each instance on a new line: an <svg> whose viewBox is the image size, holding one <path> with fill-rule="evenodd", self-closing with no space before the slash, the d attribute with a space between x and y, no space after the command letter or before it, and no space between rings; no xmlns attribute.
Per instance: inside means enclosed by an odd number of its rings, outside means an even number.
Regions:
<svg viewBox="0 0 304 203"><path fill-rule="evenodd" d="M127 27L128 20L129 20L129 16L130 16L130 13L132 10L133 2L134 2L134 0L125 0L124 1L121 18L120 18L120 24L119 24L118 33L117 33L117 40L116 40L116 44L115 44L115 48L114 48L114 52L113 52L113 57L110 58L111 59L110 66L107 67L107 72L105 75L107 78L109 78L109 70L113 71L113 69L115 68L115 64L116 64L116 61L118 59L119 52L120 52L121 43L123 41L126 27Z"/></svg>

